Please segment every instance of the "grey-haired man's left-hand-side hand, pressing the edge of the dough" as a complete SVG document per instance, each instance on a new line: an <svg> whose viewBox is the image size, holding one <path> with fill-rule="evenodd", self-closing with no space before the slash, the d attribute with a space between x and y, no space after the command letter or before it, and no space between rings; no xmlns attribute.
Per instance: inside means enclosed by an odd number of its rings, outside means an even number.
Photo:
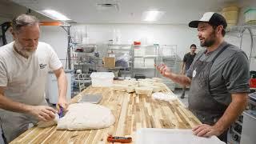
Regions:
<svg viewBox="0 0 256 144"><path fill-rule="evenodd" d="M55 118L56 110L49 106L30 106L29 114L34 115L39 121L51 121Z"/></svg>

